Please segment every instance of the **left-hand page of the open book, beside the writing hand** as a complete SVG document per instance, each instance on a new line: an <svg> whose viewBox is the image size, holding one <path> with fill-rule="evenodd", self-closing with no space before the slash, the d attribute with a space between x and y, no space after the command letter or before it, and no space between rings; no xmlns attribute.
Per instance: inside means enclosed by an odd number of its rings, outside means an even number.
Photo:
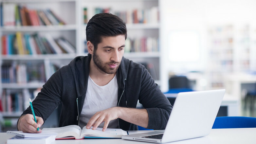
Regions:
<svg viewBox="0 0 256 144"><path fill-rule="evenodd" d="M56 138L62 138L66 136L74 136L75 139L80 139L82 129L78 125L69 125L60 128L43 128L42 131L51 131L58 133Z"/></svg>

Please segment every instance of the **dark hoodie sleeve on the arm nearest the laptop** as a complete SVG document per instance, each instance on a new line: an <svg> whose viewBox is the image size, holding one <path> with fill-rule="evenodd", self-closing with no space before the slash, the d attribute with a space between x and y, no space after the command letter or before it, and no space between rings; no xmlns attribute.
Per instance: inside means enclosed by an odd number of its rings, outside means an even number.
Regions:
<svg viewBox="0 0 256 144"><path fill-rule="evenodd" d="M149 122L147 128L154 130L165 129L172 111L172 105L145 67L142 71L139 102L148 111Z"/></svg>

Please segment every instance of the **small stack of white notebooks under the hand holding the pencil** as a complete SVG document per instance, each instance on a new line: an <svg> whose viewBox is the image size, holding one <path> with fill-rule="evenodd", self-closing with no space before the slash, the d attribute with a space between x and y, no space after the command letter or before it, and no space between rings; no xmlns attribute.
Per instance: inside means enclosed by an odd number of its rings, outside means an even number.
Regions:
<svg viewBox="0 0 256 144"><path fill-rule="evenodd" d="M24 133L22 131L7 131L9 135L15 135L7 140L8 144L50 144L55 141L57 133L41 132L41 133Z"/></svg>

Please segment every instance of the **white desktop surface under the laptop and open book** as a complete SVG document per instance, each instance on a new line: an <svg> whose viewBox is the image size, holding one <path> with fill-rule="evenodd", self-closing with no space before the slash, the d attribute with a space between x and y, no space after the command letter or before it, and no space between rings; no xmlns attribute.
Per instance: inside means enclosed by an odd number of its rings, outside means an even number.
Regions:
<svg viewBox="0 0 256 144"><path fill-rule="evenodd" d="M210 135L171 142L170 144L255 144L256 128L212 129ZM6 143L12 135L0 133L0 144ZM83 139L55 140L52 144L152 144L147 142L129 141L124 139Z"/></svg>

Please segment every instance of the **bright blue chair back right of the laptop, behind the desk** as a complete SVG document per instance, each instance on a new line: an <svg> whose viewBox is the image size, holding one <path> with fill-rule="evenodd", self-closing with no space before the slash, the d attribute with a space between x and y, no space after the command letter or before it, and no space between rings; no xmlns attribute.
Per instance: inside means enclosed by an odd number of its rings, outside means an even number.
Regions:
<svg viewBox="0 0 256 144"><path fill-rule="evenodd" d="M256 117L216 117L212 128L256 128Z"/></svg>

